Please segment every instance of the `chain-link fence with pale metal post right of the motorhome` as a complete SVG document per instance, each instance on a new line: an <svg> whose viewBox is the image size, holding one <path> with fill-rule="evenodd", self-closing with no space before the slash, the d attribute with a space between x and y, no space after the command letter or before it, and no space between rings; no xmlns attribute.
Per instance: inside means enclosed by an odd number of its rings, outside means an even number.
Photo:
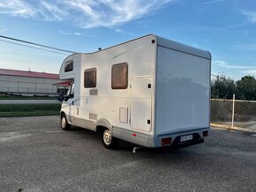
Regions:
<svg viewBox="0 0 256 192"><path fill-rule="evenodd" d="M256 101L212 99L211 122L227 127L256 129Z"/></svg>

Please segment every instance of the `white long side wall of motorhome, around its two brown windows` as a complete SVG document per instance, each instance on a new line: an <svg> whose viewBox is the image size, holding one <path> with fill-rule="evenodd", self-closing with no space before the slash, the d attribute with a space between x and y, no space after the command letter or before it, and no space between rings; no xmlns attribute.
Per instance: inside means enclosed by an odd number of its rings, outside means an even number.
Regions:
<svg viewBox="0 0 256 192"><path fill-rule="evenodd" d="M105 119L114 127L132 129L129 123L131 119L131 79L134 77L150 77L154 79L156 43L153 43L152 40L155 40L154 36L148 35L147 37L103 49L93 54L81 55L81 69L78 74L80 78L79 119L91 122ZM111 88L112 65L117 63L128 63L128 86L126 89ZM91 68L96 68L97 70L96 87L92 89L84 87L84 71ZM152 82L152 92L154 92L154 87L154 82ZM97 90L97 94L90 94L91 90ZM154 105L154 101L152 105ZM120 112L120 107L127 107L127 114L125 109ZM90 119L89 114L96 114L97 119ZM141 121L141 118L139 120ZM152 120L153 123L154 119ZM145 130L148 130L148 126L150 125L147 125ZM141 127L145 128L144 126ZM142 129L137 130L143 132ZM147 133L149 132L147 131ZM153 131L149 134L153 134Z"/></svg>

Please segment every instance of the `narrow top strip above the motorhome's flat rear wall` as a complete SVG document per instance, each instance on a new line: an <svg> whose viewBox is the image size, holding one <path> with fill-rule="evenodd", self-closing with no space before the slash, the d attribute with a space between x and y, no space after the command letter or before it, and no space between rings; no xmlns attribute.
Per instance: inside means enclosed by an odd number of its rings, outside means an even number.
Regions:
<svg viewBox="0 0 256 192"><path fill-rule="evenodd" d="M163 48L170 48L190 55L197 55L206 59L211 59L211 54L208 51L199 48L192 48L182 43L171 41L160 36L154 35L157 39L157 45Z"/></svg>

